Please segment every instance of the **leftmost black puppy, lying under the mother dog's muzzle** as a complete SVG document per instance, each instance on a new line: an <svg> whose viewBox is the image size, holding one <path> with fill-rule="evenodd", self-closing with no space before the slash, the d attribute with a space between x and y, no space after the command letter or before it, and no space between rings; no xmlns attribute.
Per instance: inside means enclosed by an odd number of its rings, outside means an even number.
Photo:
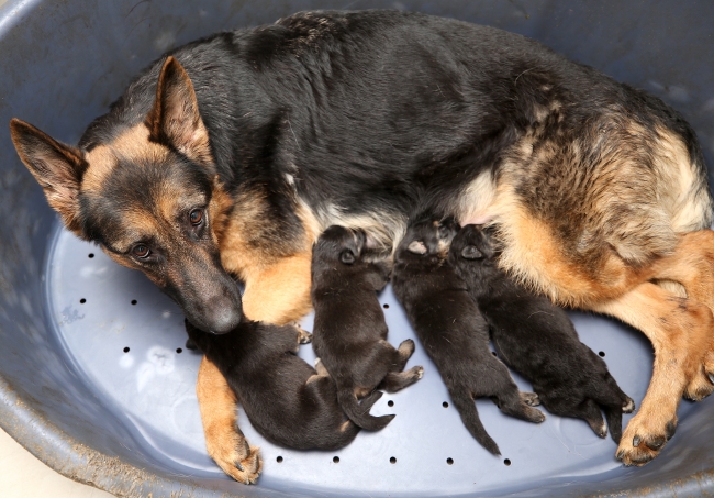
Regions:
<svg viewBox="0 0 714 498"><path fill-rule="evenodd" d="M310 334L292 325L243 318L226 334L203 332L186 321L189 339L213 362L234 390L253 427L268 441L298 450L336 450L359 428L337 403L335 384L295 356ZM381 392L362 401L368 410Z"/></svg>

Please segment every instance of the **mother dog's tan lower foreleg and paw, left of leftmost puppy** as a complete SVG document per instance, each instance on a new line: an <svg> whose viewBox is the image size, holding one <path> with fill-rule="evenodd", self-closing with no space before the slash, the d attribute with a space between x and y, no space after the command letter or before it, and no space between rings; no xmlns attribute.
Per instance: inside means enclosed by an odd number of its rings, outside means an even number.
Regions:
<svg viewBox="0 0 714 498"><path fill-rule="evenodd" d="M199 367L196 394L209 455L235 480L254 484L263 468L259 449L248 445L243 436L236 423L236 397L221 372L205 357Z"/></svg>

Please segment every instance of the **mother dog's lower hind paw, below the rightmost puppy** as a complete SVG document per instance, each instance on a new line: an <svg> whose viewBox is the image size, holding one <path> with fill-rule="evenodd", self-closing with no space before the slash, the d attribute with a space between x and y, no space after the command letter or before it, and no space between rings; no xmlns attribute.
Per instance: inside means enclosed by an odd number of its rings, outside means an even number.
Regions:
<svg viewBox="0 0 714 498"><path fill-rule="evenodd" d="M677 430L676 418L658 428L638 416L627 424L615 453L617 460L627 466L643 466L654 460Z"/></svg>

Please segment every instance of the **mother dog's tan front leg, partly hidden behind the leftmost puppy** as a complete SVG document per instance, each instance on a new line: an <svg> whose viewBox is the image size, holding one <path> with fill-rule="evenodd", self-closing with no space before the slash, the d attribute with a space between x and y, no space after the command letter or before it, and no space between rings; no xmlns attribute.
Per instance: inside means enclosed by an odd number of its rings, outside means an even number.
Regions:
<svg viewBox="0 0 714 498"><path fill-rule="evenodd" d="M249 319L282 325L310 311L309 253L252 269L244 277L243 312ZM241 433L235 395L205 358L199 369L197 394L209 455L234 479L255 483L263 466L258 449L249 446Z"/></svg>

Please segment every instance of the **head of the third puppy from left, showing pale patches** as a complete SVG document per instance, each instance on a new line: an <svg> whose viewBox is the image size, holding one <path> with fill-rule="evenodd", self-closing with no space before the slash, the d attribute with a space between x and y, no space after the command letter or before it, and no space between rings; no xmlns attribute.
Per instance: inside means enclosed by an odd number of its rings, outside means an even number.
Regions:
<svg viewBox="0 0 714 498"><path fill-rule="evenodd" d="M406 229L394 257L397 261L421 257L444 261L458 230L459 225L453 218L417 221Z"/></svg>

